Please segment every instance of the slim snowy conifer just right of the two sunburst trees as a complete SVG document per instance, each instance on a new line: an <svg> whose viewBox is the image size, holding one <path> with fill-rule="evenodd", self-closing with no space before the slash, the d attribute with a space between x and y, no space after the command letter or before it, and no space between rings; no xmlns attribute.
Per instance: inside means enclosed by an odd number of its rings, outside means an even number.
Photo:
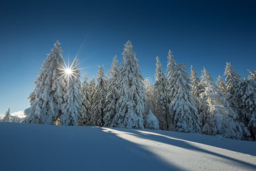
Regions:
<svg viewBox="0 0 256 171"><path fill-rule="evenodd" d="M90 122L90 109L91 109L91 94L89 91L89 84L87 83L87 74L85 72L84 74L84 82L81 84L81 91L80 94L82 96L82 118L81 123L79 125L85 125L87 126Z"/></svg>

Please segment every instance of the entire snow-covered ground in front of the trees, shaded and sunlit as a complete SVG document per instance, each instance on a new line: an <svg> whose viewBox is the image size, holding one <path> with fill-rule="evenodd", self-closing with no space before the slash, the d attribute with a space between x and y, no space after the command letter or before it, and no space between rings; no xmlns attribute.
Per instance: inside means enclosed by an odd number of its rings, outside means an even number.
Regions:
<svg viewBox="0 0 256 171"><path fill-rule="evenodd" d="M0 123L0 170L256 170L256 143L196 133Z"/></svg>

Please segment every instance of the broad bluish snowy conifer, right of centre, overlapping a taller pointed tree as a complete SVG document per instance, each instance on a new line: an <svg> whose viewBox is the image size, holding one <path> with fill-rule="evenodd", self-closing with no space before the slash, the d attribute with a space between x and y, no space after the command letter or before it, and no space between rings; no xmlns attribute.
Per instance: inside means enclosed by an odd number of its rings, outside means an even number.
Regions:
<svg viewBox="0 0 256 171"><path fill-rule="evenodd" d="M170 104L171 114L174 115L175 129L178 132L201 132L201 123L185 64L176 64L176 67L171 85L175 87L174 98Z"/></svg>

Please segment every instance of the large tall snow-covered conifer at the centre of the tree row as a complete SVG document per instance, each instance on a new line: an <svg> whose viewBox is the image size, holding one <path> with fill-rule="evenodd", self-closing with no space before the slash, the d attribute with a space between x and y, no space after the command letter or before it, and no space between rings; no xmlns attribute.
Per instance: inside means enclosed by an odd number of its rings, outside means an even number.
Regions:
<svg viewBox="0 0 256 171"><path fill-rule="evenodd" d="M114 122L120 128L144 128L145 90L139 59L132 49L131 41L127 41L124 46L124 62L117 82L121 88L117 92L119 100L116 104Z"/></svg>

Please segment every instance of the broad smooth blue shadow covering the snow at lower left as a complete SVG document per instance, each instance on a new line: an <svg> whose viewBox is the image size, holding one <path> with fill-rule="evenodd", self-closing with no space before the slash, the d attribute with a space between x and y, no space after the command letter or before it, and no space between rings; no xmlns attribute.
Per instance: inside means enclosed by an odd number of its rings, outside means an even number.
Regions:
<svg viewBox="0 0 256 171"><path fill-rule="evenodd" d="M0 123L0 130L2 170L182 170L101 127Z"/></svg>

